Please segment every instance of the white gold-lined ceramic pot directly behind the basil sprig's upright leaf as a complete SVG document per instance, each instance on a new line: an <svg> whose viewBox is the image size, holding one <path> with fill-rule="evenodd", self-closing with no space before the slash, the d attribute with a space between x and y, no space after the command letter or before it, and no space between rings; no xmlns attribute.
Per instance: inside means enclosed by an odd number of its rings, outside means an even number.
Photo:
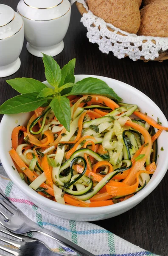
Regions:
<svg viewBox="0 0 168 256"><path fill-rule="evenodd" d="M70 23L68 0L20 0L17 12L24 20L28 52L37 57L62 52Z"/></svg>

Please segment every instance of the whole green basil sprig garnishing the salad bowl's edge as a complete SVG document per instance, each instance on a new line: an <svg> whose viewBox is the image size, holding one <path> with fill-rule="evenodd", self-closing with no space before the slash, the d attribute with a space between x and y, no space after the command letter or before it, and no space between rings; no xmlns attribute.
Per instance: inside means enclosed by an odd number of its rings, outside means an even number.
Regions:
<svg viewBox="0 0 168 256"><path fill-rule="evenodd" d="M76 59L69 61L62 70L57 62L43 53L45 77L52 88L32 78L7 80L21 95L8 99L0 106L0 114L17 114L36 110L42 105L50 105L59 122L70 131L71 111L67 96L100 94L120 101L120 97L104 81L89 77L75 84L74 69Z"/></svg>

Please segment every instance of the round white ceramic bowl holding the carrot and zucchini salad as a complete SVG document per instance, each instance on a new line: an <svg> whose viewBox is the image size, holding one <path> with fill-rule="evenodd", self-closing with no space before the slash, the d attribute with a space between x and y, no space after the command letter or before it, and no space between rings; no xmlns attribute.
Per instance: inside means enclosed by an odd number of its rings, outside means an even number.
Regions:
<svg viewBox="0 0 168 256"><path fill-rule="evenodd" d="M89 76L77 75L76 81L86 77ZM118 93L121 98L123 98L123 102L137 104L142 112L148 113L149 116L153 115L152 117L155 120L157 120L157 117L159 117L162 125L168 126L168 121L166 120L160 108L158 108L151 99L149 99L139 90L114 79L101 76L92 77L97 77L104 80L110 87L115 90L116 93ZM17 170L14 171L11 167L13 162L10 155L8 154L8 151L11 149L11 132L13 128L16 127L16 120L18 121L17 125L23 125L28 121L29 116L29 113L3 116L0 124L0 159L8 176L15 183L15 185L25 195L27 195L34 204L53 215L76 221L96 221L117 216L123 212L128 211L132 207L139 204L140 201L142 201L144 198L146 198L146 196L149 195L157 187L168 169L168 133L163 131L158 139L158 154L160 157L157 160L157 169L147 186L132 198L129 198L126 201L120 202L118 204L98 208L73 207L50 201L31 189L24 181L21 180ZM161 147L164 148L164 151L160 151Z"/></svg>

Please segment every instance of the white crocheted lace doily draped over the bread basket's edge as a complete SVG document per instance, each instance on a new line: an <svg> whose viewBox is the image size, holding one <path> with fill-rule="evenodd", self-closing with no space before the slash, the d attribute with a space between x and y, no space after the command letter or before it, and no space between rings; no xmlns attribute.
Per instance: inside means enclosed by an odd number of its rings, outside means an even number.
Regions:
<svg viewBox="0 0 168 256"><path fill-rule="evenodd" d="M113 52L119 59L127 55L130 59L136 61L140 59L140 57L144 57L146 60L154 60L159 57L160 52L168 50L168 38L129 34L93 15L93 13L88 10L86 0L71 0L71 4L76 1L82 3L84 8L88 11L84 13L81 22L87 27L87 37L89 41L93 44L98 44L101 52L107 54ZM95 26L92 25L93 23ZM107 26L113 29L114 32L110 31ZM123 35L119 35L117 32ZM143 42L144 40L146 42ZM155 43L152 42L152 40L154 40Z"/></svg>

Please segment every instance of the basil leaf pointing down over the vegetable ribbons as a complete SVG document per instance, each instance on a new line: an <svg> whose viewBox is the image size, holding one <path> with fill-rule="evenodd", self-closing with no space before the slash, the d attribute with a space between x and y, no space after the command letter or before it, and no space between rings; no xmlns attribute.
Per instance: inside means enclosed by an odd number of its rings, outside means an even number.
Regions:
<svg viewBox="0 0 168 256"><path fill-rule="evenodd" d="M57 96L51 101L50 107L58 121L70 132L71 111L69 99L63 96Z"/></svg>

